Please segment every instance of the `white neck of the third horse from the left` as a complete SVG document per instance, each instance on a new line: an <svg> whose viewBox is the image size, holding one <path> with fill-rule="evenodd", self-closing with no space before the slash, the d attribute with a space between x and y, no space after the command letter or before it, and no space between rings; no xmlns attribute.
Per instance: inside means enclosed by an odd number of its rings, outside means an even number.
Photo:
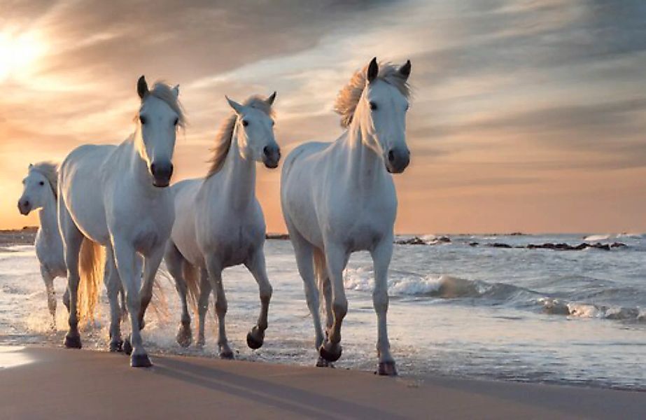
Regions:
<svg viewBox="0 0 646 420"><path fill-rule="evenodd" d="M225 200L236 210L246 209L255 198L255 162L242 158L238 147L237 134L233 139L219 177L211 176L206 183L220 183L216 200Z"/></svg>

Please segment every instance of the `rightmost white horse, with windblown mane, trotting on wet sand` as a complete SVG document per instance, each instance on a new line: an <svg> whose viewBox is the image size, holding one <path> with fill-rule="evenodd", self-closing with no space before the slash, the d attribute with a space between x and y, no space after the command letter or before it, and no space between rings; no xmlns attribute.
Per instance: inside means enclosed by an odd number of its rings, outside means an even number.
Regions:
<svg viewBox="0 0 646 420"><path fill-rule="evenodd" d="M281 205L314 319L319 366L341 356L341 323L348 309L343 270L350 254L370 251L379 374L397 374L386 329L388 265L397 212L390 174L403 172L410 159L405 141L410 71L409 61L395 67L379 66L372 59L337 98L336 111L346 132L331 144L295 148L283 165ZM315 274L325 295L325 342Z"/></svg>

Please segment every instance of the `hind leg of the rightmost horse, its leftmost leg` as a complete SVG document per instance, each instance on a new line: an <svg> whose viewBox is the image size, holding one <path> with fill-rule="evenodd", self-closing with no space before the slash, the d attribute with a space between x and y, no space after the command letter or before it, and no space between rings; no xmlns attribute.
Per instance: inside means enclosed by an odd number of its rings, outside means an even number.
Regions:
<svg viewBox="0 0 646 420"><path fill-rule="evenodd" d="M314 248L295 228L290 226L290 223L288 223L287 226L289 237L294 247L298 273L303 279L307 307L309 308L309 313L311 314L312 322L314 323L314 335L316 337L314 345L318 350L318 348L321 347L321 344L323 344L323 330L321 330L318 288L316 287L316 279L314 279ZM322 360L319 360L317 365L327 365L326 363L321 362Z"/></svg>

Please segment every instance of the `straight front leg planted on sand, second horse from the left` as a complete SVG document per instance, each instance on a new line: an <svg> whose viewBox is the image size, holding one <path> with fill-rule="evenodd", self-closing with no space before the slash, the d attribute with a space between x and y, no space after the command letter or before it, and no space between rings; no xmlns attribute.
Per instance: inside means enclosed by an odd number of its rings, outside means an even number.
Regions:
<svg viewBox="0 0 646 420"><path fill-rule="evenodd" d="M119 277L126 293L126 302L130 313L130 365L132 367L148 367L150 363L148 353L143 349L141 332L139 331L139 311L141 310L141 300L139 297L139 284L141 283L141 270L138 269L136 261L136 251L134 246L127 241L113 240L113 251Z"/></svg>

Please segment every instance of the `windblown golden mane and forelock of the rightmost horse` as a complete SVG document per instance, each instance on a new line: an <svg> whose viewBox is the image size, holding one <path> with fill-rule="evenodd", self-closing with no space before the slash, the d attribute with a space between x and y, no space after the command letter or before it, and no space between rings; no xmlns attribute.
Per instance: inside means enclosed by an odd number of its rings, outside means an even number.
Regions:
<svg viewBox="0 0 646 420"><path fill-rule="evenodd" d="M345 87L339 91L335 102L335 112L341 116L341 127L348 127L352 122L354 111L365 89L367 66L356 71ZM379 63L377 79L393 85L407 99L410 97L410 86L407 79L399 72L399 66L389 62Z"/></svg>

